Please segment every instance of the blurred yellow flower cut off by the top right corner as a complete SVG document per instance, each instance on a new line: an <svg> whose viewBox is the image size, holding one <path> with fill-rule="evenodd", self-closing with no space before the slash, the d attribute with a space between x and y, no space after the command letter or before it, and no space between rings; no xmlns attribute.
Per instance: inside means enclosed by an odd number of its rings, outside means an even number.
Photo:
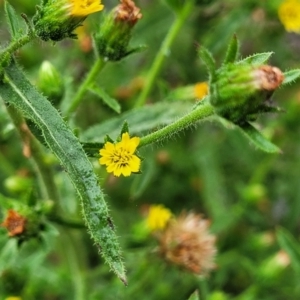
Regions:
<svg viewBox="0 0 300 300"><path fill-rule="evenodd" d="M300 0L283 1L278 16L286 31L300 33Z"/></svg>

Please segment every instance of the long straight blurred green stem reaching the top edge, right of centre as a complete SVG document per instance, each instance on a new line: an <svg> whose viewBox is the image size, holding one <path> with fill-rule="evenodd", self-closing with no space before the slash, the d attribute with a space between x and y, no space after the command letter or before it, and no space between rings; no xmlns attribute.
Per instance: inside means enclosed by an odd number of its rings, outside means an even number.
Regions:
<svg viewBox="0 0 300 300"><path fill-rule="evenodd" d="M140 107L145 104L147 96L149 95L153 87L154 81L162 68L164 59L168 56L171 45L173 44L180 28L183 26L185 20L187 19L188 15L192 11L193 7L194 7L194 0L184 1L182 10L178 13L177 18L175 19L168 34L166 35L164 41L162 42L161 47L154 59L154 62L146 76L146 85L143 88L142 92L140 93L136 101L135 107Z"/></svg>

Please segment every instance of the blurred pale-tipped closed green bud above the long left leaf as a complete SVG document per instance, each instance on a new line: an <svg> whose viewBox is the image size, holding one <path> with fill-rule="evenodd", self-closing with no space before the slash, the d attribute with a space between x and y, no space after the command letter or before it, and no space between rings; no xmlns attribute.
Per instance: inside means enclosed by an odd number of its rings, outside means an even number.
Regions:
<svg viewBox="0 0 300 300"><path fill-rule="evenodd" d="M64 87L60 74L49 61L44 61L39 70L38 87L47 97L56 102L63 95Z"/></svg>

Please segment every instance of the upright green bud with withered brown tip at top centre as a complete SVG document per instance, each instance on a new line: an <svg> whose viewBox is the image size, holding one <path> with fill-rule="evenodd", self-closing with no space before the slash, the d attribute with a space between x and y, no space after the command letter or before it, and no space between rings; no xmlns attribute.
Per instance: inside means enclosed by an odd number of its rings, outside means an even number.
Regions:
<svg viewBox="0 0 300 300"><path fill-rule="evenodd" d="M128 49L131 30L142 17L140 9L131 0L121 0L109 14L107 14L94 36L96 51L99 56L117 61L132 50Z"/></svg>

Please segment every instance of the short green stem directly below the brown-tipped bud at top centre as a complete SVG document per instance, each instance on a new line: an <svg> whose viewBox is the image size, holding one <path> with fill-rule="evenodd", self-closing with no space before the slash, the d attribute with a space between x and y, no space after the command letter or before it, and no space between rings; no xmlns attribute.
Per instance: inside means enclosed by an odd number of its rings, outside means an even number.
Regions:
<svg viewBox="0 0 300 300"><path fill-rule="evenodd" d="M87 89L89 88L90 84L95 81L97 75L100 73L100 71L104 68L105 61L103 58L98 58L96 62L94 63L93 67L87 74L85 80L80 85L77 93L73 97L69 107L66 110L66 118L69 119L72 113L76 110L76 108L79 106L80 102L83 99L83 96Z"/></svg>

